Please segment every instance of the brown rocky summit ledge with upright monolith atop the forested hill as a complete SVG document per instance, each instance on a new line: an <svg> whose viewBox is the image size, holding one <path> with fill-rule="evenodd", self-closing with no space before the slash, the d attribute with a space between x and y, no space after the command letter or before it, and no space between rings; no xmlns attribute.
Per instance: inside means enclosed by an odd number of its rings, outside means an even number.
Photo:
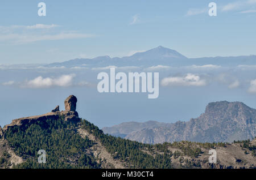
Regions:
<svg viewBox="0 0 256 180"><path fill-rule="evenodd" d="M64 117L64 121L79 122L80 118L79 118L79 114L76 112L76 102L77 102L76 96L71 95L65 100L65 110L61 112L59 109L59 105L57 105L56 108L51 111L51 113L14 119L10 123L10 125L6 125L2 129L6 130L8 127L11 127L11 126L22 126L22 125L33 123L36 121L46 121L47 119L57 120L60 117ZM0 129L0 133L1 133L1 129Z"/></svg>

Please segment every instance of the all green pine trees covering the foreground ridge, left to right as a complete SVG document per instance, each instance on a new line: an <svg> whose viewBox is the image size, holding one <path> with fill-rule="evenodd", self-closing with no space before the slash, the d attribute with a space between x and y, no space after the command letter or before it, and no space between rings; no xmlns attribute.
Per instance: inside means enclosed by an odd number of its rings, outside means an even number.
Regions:
<svg viewBox="0 0 256 180"><path fill-rule="evenodd" d="M85 119L71 123L65 122L64 117L59 117L57 120L47 119L8 128L5 138L14 148L15 153L26 160L14 168L102 168L101 159L94 157L88 151L95 142L86 136L81 138L77 132L79 127L96 136L113 158L123 162L128 168L172 168L171 158L178 158L180 168L200 167L199 161L191 161L183 156L196 158L203 153L201 148L226 147L228 144L188 141L143 144L104 134L97 126ZM240 143L241 147L246 149L245 153L251 151L251 155L255 156L256 147L250 144L250 140L234 143ZM46 164L38 163L40 149L46 151ZM170 149L174 149L173 152ZM10 164L9 157L7 152L3 153L0 157L0 167ZM105 159L103 161L106 162Z"/></svg>

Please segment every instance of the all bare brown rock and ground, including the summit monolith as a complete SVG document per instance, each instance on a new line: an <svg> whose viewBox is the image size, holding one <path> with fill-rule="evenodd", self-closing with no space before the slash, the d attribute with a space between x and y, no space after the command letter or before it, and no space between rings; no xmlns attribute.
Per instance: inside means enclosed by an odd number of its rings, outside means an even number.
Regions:
<svg viewBox="0 0 256 180"><path fill-rule="evenodd" d="M82 138L88 137L94 143L89 149L85 149L85 153L96 158L97 163L101 165L101 168L129 168L130 164L119 160L118 152L114 154L109 153L106 147L102 145L100 139L94 136L92 132L88 132L81 128L79 123L80 118L76 110L76 98L75 96L69 96L65 100L65 111L59 111L59 107L56 106L51 113L44 115L14 119L14 121L5 126L0 127L0 168L13 168L14 165L20 164L26 161L28 157L19 157L14 153L14 149L9 146L7 140L5 140L5 131L11 126L23 126L26 124L34 123L36 121L44 121L47 118L58 119L60 116L64 116L64 121L76 122L75 130L81 135ZM256 156L253 151L250 151L251 147L256 145L256 139L249 141L240 141L238 143L193 143L188 141L177 141L174 143L164 143L163 145L144 146L141 151L155 157L157 154L167 153L171 159L172 168L254 168L256 169ZM151 148L151 149L147 149ZM249 149L250 148L250 149ZM209 163L209 150L214 149L217 153L217 163ZM68 162L76 164L80 158L80 153L74 157L68 157ZM126 157L129 159L129 157Z"/></svg>

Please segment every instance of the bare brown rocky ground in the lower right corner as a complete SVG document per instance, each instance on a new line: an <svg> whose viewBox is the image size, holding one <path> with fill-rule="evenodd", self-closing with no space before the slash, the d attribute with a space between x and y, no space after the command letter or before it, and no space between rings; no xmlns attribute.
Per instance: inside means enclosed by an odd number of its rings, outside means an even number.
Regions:
<svg viewBox="0 0 256 180"><path fill-rule="evenodd" d="M184 146L189 145L193 148L200 148L201 153L197 157L184 155L180 145L168 145L170 151L170 158L172 160L173 168L217 168L217 169L255 169L256 168L256 156L253 156L253 152L249 149L242 148L242 143L230 143L225 147L216 146L214 148L205 148L198 143L180 142ZM251 141L251 145L256 145L256 139ZM217 152L217 163L209 163L209 150L214 149ZM142 149L143 152L155 156L157 153L163 154L156 149L148 151L148 149ZM245 153L247 151L247 153ZM174 153L179 152L180 155L175 156Z"/></svg>

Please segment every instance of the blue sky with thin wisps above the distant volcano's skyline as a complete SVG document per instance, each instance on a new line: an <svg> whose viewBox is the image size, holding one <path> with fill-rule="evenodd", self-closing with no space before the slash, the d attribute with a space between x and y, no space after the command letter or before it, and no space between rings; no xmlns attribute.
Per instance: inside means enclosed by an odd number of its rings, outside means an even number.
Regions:
<svg viewBox="0 0 256 180"><path fill-rule="evenodd" d="M256 54L255 19L256 0L1 0L0 64L123 57L159 45L189 58Z"/></svg>

